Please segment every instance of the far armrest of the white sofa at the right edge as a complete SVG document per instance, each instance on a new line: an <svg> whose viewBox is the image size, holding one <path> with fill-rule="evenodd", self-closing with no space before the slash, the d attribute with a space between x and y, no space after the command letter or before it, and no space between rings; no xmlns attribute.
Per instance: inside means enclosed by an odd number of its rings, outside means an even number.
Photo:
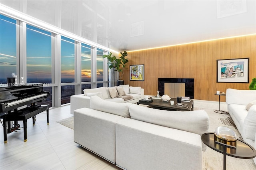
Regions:
<svg viewBox="0 0 256 170"><path fill-rule="evenodd" d="M256 90L237 90L227 89L226 90L226 103L247 105L251 101L256 99Z"/></svg>

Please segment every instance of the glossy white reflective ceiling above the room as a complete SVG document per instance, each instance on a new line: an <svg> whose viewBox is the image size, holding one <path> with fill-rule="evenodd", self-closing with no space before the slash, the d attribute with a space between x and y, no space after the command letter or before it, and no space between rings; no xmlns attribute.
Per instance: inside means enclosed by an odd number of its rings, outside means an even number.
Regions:
<svg viewBox="0 0 256 170"><path fill-rule="evenodd" d="M255 0L1 0L116 51L256 33Z"/></svg>

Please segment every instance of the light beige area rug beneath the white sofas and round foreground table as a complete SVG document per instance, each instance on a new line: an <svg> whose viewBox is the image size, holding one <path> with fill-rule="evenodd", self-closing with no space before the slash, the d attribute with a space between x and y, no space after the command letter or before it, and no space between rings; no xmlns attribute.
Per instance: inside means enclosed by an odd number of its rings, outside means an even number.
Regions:
<svg viewBox="0 0 256 170"><path fill-rule="evenodd" d="M213 109L194 108L194 110L205 110L207 112L210 118L209 132L214 132L215 128L218 126L226 126L234 130L238 139L242 140L230 115L215 113ZM73 117L60 120L58 123L74 129ZM202 170L223 170L223 154L211 148L207 148L206 151L203 152ZM256 165L252 159L240 159L227 156L226 170L256 170Z"/></svg>

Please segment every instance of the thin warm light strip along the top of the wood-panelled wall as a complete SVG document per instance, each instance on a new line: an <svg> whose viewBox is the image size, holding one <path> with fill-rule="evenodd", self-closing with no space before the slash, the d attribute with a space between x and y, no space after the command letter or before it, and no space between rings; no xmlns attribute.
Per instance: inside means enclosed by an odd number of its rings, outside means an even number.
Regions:
<svg viewBox="0 0 256 170"><path fill-rule="evenodd" d="M158 49L158 48L164 48L164 47L173 47L177 45L187 45L187 44L192 44L192 43L201 43L201 42L210 42L210 41L215 41L215 40L224 40L224 39L229 39L229 38L239 38L239 37L244 37L244 36L255 36L256 33L254 34L246 34L246 35L241 35L241 36L231 36L231 37L225 37L225 38L216 38L216 39L210 39L210 40L202 40L202 41L197 41L197 42L188 42L188 43L180 43L180 44L174 44L174 45L166 45L162 47L152 47L152 48L145 48L145 49L137 49L137 50L131 50L127 52L135 52L135 51L144 51L144 50L149 50L149 49Z"/></svg>

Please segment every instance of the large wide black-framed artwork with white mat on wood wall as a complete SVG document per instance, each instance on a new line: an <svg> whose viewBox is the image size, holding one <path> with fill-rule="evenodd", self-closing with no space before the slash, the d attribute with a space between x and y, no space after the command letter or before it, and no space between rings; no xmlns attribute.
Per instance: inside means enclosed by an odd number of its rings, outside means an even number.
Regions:
<svg viewBox="0 0 256 170"><path fill-rule="evenodd" d="M217 60L217 83L249 83L249 58Z"/></svg>

